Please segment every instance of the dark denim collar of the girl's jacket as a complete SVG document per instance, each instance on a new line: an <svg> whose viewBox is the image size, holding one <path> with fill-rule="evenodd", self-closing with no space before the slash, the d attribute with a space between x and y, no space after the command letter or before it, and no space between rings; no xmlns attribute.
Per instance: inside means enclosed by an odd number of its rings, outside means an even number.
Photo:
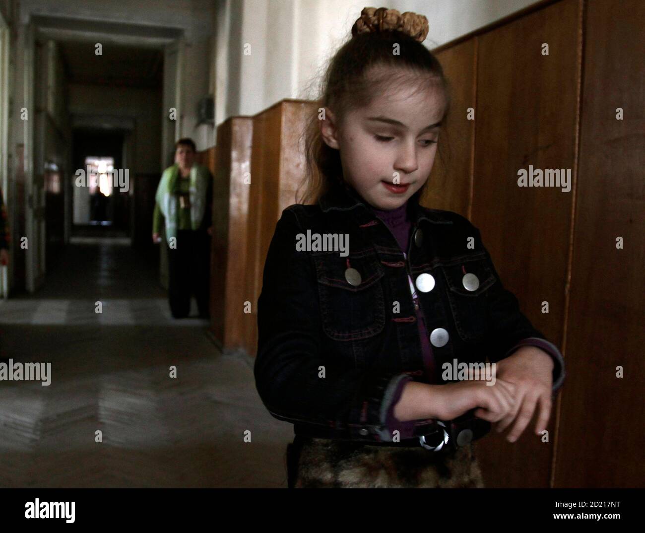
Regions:
<svg viewBox="0 0 645 533"><path fill-rule="evenodd" d="M318 205L324 213L330 211L354 212L361 219L373 214L368 203L358 194L352 186L346 183L333 183L329 190L324 193ZM419 205L419 193L413 194L408 200L408 215L413 225L421 220L427 220L435 224L452 224L452 220L441 215L441 212L433 209L422 208Z"/></svg>

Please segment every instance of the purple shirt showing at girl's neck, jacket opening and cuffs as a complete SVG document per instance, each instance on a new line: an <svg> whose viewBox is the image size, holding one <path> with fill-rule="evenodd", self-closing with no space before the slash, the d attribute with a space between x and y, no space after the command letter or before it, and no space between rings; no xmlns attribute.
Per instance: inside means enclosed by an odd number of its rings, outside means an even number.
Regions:
<svg viewBox="0 0 645 533"><path fill-rule="evenodd" d="M375 214L375 216L379 217L379 219L381 219L388 226L388 228L390 228L390 231L392 231L394 237L397 239L397 243L399 243L399 246L401 247L401 250L403 251L404 256L406 256L405 250L408 250L408 246L410 245L410 231L412 230L412 223L408 219L407 207L408 207L407 201L401 207L391 211L382 211L382 210L372 208L370 206L370 209ZM406 256L406 259L407 259L407 256ZM423 313L421 311L421 306L418 304L415 286L412 283L412 279L410 279L410 276L408 276L408 280L410 283L411 292L413 292L412 299L413 299L413 302L415 303L415 312L417 314L417 325L419 326L419 338L421 339L421 351L422 351L423 365L424 365L424 376L423 376L424 379L419 381L422 381L422 383L430 383L430 384L441 383L441 380L437 379L435 358L433 356L432 347L430 346L430 336L428 335L428 330L426 329ZM510 356L513 352L515 352L515 350L517 350L522 346L535 346L535 347L541 348L542 350L544 350L544 352L549 354L555 360L554 362L557 366L557 361L559 360L559 358L554 353L554 350L557 350L557 347L552 345L550 342L545 341L544 339L538 339L537 337L522 339L513 348L508 350L508 352L506 353L506 355L504 355L504 357ZM504 357L502 357L502 359ZM556 373L555 367L553 372L554 374ZM399 421L399 419L397 419L394 416L394 413L393 413L394 406L397 405L397 402L399 401L399 399L401 399L403 388L405 387L406 383L408 383L408 381L412 381L412 380L413 380L412 376L408 376L404 379L401 379L392 397L392 403L390 403L390 407L388 408L388 414L386 417L386 425L388 427L390 434L392 434L393 431L398 430L399 436L401 439L412 438L413 429L415 425L417 423L418 424L425 423L424 420L409 420L409 421L401 422Z"/></svg>

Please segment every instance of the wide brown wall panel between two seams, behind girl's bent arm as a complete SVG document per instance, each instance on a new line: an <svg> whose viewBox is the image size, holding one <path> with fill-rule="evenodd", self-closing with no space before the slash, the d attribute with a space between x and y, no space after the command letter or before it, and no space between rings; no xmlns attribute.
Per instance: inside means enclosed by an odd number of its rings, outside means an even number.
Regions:
<svg viewBox="0 0 645 533"><path fill-rule="evenodd" d="M565 295L575 188L581 0L563 0L477 37L473 224L504 286L555 345L564 337ZM549 54L542 55L542 46ZM520 187L518 171L570 169L571 190ZM547 301L549 313L542 314ZM508 429L481 441L490 487L548 487L550 442L535 435L537 414L515 443ZM499 468L499 465L504 468Z"/></svg>

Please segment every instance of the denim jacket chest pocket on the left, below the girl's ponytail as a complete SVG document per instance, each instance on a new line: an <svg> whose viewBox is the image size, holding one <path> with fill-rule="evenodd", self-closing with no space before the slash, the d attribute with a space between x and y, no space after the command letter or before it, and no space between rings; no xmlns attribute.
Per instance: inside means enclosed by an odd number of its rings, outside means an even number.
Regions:
<svg viewBox="0 0 645 533"><path fill-rule="evenodd" d="M347 257L321 252L312 258L325 334L336 341L379 334L385 327L384 270L376 252L364 250Z"/></svg>

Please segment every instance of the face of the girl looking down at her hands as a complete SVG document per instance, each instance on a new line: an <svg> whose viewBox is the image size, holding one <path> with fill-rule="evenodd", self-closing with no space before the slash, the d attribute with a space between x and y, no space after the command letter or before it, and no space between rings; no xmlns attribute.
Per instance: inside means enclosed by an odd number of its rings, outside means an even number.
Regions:
<svg viewBox="0 0 645 533"><path fill-rule="evenodd" d="M444 107L438 86L399 89L350 112L340 126L327 108L321 132L341 152L344 179L374 208L389 211L428 179Z"/></svg>

